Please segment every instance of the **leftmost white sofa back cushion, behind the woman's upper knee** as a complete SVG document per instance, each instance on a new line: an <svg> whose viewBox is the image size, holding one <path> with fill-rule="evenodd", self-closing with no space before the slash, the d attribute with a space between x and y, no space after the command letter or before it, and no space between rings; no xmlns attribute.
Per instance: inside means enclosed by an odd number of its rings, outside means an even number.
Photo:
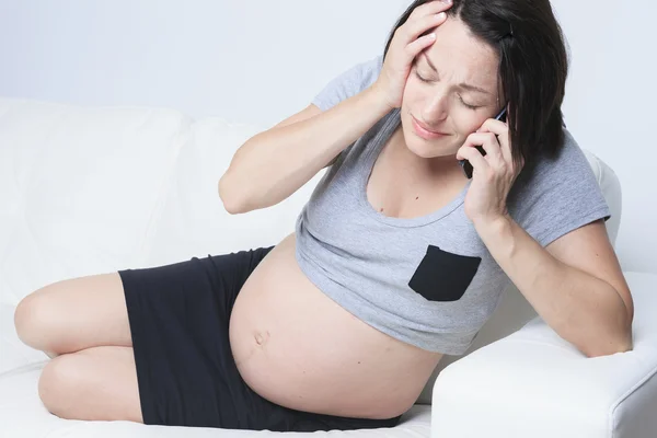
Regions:
<svg viewBox="0 0 657 438"><path fill-rule="evenodd" d="M165 108L0 99L0 297L142 263L191 124Z"/></svg>

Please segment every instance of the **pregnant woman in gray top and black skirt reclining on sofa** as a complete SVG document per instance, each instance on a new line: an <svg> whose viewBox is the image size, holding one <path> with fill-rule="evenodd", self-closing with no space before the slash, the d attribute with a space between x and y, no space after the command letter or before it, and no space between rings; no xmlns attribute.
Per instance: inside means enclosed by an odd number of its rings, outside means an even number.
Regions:
<svg viewBox="0 0 657 438"><path fill-rule="evenodd" d="M292 234L58 281L19 304L19 336L53 358L45 406L151 425L392 427L510 281L583 354L630 349L610 210L563 124L566 76L548 0L413 2L383 56L251 138L221 177L227 210L245 214L325 169Z"/></svg>

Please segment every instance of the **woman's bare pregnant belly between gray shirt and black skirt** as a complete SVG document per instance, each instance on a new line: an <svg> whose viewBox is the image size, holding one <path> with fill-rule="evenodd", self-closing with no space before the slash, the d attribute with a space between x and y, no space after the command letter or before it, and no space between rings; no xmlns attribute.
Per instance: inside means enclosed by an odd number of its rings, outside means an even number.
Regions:
<svg viewBox="0 0 657 438"><path fill-rule="evenodd" d="M396 341L322 293L301 272L295 234L258 264L238 295L230 343L263 397L290 408L361 418L407 411L441 355Z"/></svg>

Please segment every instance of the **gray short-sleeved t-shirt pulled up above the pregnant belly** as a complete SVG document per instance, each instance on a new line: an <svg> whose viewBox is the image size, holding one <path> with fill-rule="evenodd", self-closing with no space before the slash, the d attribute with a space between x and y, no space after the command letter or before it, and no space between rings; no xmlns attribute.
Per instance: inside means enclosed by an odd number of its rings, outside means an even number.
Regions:
<svg viewBox="0 0 657 438"><path fill-rule="evenodd" d="M354 67L313 103L326 111L359 93L377 79L381 62L378 57ZM326 170L297 219L297 261L320 290L367 324L427 350L460 355L510 279L463 210L472 181L448 205L423 217L392 218L371 207L367 181L400 123L399 110L392 111ZM531 175L518 177L507 208L542 246L610 218L569 132L558 158L539 162Z"/></svg>

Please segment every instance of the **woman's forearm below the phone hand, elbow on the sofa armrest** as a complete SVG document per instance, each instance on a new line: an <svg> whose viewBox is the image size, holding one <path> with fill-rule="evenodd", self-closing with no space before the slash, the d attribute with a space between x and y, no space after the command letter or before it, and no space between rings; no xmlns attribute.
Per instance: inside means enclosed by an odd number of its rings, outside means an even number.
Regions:
<svg viewBox="0 0 657 438"><path fill-rule="evenodd" d="M560 336L589 357L631 349L629 313L612 286L553 257L508 216L475 228L491 255Z"/></svg>

